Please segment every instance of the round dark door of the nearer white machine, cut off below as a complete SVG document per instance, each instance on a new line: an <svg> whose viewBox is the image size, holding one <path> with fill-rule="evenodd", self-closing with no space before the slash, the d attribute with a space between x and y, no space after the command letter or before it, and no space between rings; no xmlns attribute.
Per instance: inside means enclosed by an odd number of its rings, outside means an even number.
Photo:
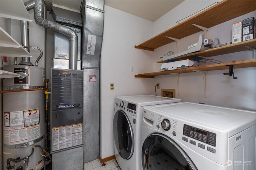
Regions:
<svg viewBox="0 0 256 170"><path fill-rule="evenodd" d="M154 133L142 146L143 170L197 170L180 146L172 139Z"/></svg>

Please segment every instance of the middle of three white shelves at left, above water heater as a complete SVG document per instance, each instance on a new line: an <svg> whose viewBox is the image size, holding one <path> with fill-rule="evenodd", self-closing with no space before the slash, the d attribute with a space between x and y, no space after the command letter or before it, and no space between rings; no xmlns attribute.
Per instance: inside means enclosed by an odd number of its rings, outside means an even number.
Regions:
<svg viewBox="0 0 256 170"><path fill-rule="evenodd" d="M0 56L32 57L15 39L0 27Z"/></svg>

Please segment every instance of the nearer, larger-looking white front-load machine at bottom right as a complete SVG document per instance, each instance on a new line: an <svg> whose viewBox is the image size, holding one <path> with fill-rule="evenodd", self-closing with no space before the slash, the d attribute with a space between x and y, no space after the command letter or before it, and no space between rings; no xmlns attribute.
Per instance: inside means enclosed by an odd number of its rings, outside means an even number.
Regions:
<svg viewBox="0 0 256 170"><path fill-rule="evenodd" d="M144 170L256 170L256 112L181 102L145 107Z"/></svg>

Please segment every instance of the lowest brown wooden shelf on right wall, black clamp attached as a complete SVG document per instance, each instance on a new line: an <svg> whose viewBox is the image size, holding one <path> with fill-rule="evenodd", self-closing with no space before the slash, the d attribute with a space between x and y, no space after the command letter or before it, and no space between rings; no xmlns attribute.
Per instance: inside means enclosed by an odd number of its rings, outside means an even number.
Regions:
<svg viewBox="0 0 256 170"><path fill-rule="evenodd" d="M176 70L149 72L149 73L135 75L135 77L154 78L154 76L169 75L169 73L194 72L193 70L200 70L200 71L225 70L225 69L229 69L228 65L234 65L234 68L255 67L256 59L244 60L244 61L232 61L231 63L212 64L212 65L198 66L198 67L181 68Z"/></svg>

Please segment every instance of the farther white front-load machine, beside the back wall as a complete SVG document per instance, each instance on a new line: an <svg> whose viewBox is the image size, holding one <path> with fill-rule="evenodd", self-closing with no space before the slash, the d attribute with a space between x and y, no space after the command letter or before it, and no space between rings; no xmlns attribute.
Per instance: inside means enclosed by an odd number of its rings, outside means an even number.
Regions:
<svg viewBox="0 0 256 170"><path fill-rule="evenodd" d="M141 127L144 106L181 102L152 95L116 97L113 131L116 160L122 170L141 170Z"/></svg>

